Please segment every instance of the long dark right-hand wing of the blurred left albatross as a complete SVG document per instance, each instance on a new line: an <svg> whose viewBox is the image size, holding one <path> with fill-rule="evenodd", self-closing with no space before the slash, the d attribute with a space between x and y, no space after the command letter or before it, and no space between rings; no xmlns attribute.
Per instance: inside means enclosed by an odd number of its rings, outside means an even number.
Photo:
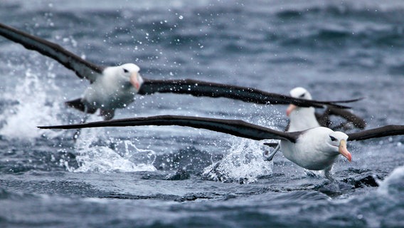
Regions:
<svg viewBox="0 0 404 228"><path fill-rule="evenodd" d="M302 107L317 107L322 108L324 105L330 105L335 108L349 108L346 105L338 105L336 103L349 103L353 100L338 100L338 101L318 101L305 100L300 98L292 98L287 95L277 93L267 93L255 88L231 86L220 83L210 83L206 81L196 81L192 79L179 80L151 80L144 78L144 83L140 88L140 95L149 95L152 93L179 93L190 94L194 96L207 96L211 98L231 98L235 100L243 100L249 103L257 104L294 104Z"/></svg>

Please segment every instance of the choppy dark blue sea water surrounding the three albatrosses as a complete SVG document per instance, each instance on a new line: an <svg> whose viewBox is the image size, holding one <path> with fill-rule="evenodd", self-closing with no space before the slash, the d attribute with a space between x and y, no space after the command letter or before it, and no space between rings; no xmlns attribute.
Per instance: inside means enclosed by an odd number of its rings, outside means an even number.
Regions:
<svg viewBox="0 0 404 228"><path fill-rule="evenodd" d="M145 78L193 78L318 100L366 97L367 128L403 124L404 4L395 1L1 1L1 23ZM179 127L38 130L77 123L80 81L0 37L0 227L403 227L403 136L350 142L336 182L262 142ZM138 96L116 118L179 114L272 128L285 106ZM321 110L319 110L321 111ZM100 120L96 115L91 120ZM220 161L216 172L213 165Z"/></svg>

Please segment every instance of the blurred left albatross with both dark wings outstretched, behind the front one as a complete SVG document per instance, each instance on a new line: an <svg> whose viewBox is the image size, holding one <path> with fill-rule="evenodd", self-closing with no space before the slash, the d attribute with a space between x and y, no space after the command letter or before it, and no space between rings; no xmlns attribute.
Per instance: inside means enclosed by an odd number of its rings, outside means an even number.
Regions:
<svg viewBox="0 0 404 228"><path fill-rule="evenodd" d="M301 107L322 108L324 105L335 108L349 108L336 103L349 103L359 99L318 101L292 98L277 93L267 93L255 88L231 86L220 83L197 81L192 79L153 80L143 78L140 68L134 63L120 66L99 66L85 61L56 43L33 36L16 28L0 24L0 35L11 41L20 43L25 48L38 51L44 56L53 58L65 68L74 71L79 78L87 79L90 86L81 98L69 100L66 104L84 113L93 114L100 109L104 120L110 120L117 108L125 108L134 101L134 95L151 95L153 93L178 93L212 98L231 98L257 104L289 104Z"/></svg>

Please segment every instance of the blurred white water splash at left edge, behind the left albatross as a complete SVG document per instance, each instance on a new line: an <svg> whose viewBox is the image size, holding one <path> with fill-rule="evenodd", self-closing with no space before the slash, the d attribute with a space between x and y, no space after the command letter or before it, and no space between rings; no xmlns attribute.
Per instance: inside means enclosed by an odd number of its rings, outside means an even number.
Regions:
<svg viewBox="0 0 404 228"><path fill-rule="evenodd" d="M46 86L45 86L46 85ZM33 140L44 133L55 137L60 133L52 130L38 130L36 126L43 123L61 124L58 120L60 106L48 96L47 90L55 90L53 80L43 83L31 69L25 72L25 78L17 83L14 91L4 94L5 100L14 100L1 113L0 122L4 123L0 135L19 140Z"/></svg>

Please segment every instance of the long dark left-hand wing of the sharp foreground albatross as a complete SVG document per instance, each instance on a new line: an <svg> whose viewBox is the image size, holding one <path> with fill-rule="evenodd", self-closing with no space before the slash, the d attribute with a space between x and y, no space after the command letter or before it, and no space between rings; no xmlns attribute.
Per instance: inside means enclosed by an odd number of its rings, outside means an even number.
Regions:
<svg viewBox="0 0 404 228"><path fill-rule="evenodd" d="M299 133L284 133L272 130L243 120L223 120L216 118L201 118L183 115L156 115L142 118L127 118L120 120L107 120L92 123L74 125L41 126L41 129L75 129L75 128L100 128L100 127L127 127L141 125L179 125L191 128L203 128L220 133L235 135L252 140L289 140L295 142Z"/></svg>

